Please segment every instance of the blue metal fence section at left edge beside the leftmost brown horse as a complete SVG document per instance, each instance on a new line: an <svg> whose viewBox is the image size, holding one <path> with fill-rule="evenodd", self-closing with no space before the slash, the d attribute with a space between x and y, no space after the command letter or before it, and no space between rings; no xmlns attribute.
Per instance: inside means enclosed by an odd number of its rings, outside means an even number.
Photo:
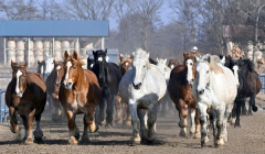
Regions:
<svg viewBox="0 0 265 154"><path fill-rule="evenodd" d="M1 122L7 122L8 120L8 116L9 116L9 110L8 110L8 107L6 105L6 101L4 101L4 95L6 95L6 90L0 90L0 123Z"/></svg>

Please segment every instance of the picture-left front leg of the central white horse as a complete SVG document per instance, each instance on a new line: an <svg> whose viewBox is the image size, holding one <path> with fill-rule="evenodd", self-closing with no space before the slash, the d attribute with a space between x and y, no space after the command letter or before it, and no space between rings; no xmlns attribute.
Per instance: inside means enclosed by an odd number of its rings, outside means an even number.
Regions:
<svg viewBox="0 0 265 154"><path fill-rule="evenodd" d="M131 114L131 125L132 125L132 138L131 141L132 143L140 143L141 139L139 135L139 130L140 130L140 121L137 116L137 106L138 102L135 102L134 100L129 99L129 109L130 109L130 114Z"/></svg>

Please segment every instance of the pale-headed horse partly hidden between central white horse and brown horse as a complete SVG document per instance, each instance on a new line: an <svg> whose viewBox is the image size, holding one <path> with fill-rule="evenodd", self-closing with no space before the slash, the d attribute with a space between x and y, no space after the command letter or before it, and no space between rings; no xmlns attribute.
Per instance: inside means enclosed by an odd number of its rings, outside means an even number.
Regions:
<svg viewBox="0 0 265 154"><path fill-rule="evenodd" d="M168 85L168 82L169 82L169 77L170 77L170 73L171 73L171 68L169 68L169 67L167 66L167 58L166 58L166 59L159 59L159 58L157 58L157 62L158 62L157 68L161 72L161 74L163 75L163 77L165 77L165 79L166 79L166 81L167 81L167 85ZM166 92L165 97L161 99L160 102L161 102L161 103L160 103L159 106L162 107L162 109L161 109L161 116L162 116L162 117L166 117L166 113L167 113L166 107L168 106L168 108L170 109L171 106L172 106L172 101L171 101L171 99L170 99L170 97L169 97L168 91Z"/></svg>

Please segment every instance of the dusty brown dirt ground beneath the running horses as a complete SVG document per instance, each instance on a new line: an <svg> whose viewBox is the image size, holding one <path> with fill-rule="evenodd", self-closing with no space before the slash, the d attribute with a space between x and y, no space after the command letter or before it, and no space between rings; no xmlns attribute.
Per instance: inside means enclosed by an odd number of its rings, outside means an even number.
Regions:
<svg viewBox="0 0 265 154"><path fill-rule="evenodd" d="M67 145L68 129L66 122L55 123L51 121L49 113L43 114L41 127L44 133L42 144L24 145L20 142L21 133L13 134L9 123L0 124L0 153L265 153L265 95L258 95L256 99L258 111L253 116L241 117L241 128L227 127L229 142L216 148L213 146L212 134L206 147L201 148L200 139L193 136L180 138L178 127L178 112L167 114L167 118L158 117L157 139L152 145L135 145L129 142L131 127L117 127L105 129L100 127L96 133L89 134L88 145ZM82 131L81 117L76 119L77 127ZM19 121L20 128L21 121Z"/></svg>

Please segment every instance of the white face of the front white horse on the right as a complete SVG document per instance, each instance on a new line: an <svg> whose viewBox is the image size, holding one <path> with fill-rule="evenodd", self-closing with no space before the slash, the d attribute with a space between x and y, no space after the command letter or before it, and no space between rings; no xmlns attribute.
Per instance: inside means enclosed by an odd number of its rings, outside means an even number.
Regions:
<svg viewBox="0 0 265 154"><path fill-rule="evenodd" d="M198 78L198 87L197 90L205 90L206 84L210 81L210 67L205 63L199 63L197 65L197 78Z"/></svg>

